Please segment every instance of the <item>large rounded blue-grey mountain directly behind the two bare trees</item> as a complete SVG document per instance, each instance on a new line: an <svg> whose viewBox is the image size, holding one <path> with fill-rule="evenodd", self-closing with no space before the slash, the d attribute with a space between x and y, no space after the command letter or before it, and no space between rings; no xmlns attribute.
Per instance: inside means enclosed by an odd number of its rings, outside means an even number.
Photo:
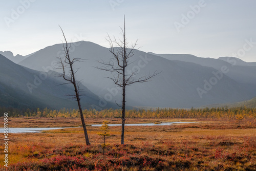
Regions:
<svg viewBox="0 0 256 171"><path fill-rule="evenodd" d="M20 62L20 65L31 69L44 71L52 68L61 55L62 44L41 49ZM110 79L111 74L98 70L98 61L108 62L112 55L108 48L93 42L80 41L72 46L72 57L86 59L77 63L80 68L76 73L77 79L102 99L98 106L105 106L109 102L120 102L121 91L115 87ZM222 61L222 60L221 60ZM139 50L130 59L131 66L127 73L138 70L138 77L155 71L161 72L150 82L137 83L127 87L127 104L133 106L191 108L212 103L236 102L252 98L252 95L237 81L223 75L210 90L199 94L198 89L204 90L204 80L209 81L217 72L211 67L201 66L193 62L171 61L163 57L148 54ZM222 61L225 63L225 61Z"/></svg>

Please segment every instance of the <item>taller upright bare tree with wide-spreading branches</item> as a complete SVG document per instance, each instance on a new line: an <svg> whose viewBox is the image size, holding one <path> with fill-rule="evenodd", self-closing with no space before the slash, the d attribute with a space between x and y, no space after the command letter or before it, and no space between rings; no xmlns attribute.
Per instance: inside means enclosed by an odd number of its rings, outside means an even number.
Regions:
<svg viewBox="0 0 256 171"><path fill-rule="evenodd" d="M120 28L122 33L122 39L111 39L108 34L107 40L110 44L110 52L113 55L113 58L109 62L99 61L103 66L101 68L97 67L100 70L108 71L112 73L110 78L118 87L122 88L122 106L118 105L122 109L122 131L121 131L121 144L124 144L124 122L125 122L125 89L126 86L129 86L136 82L147 82L158 73L156 71L152 75L147 75L140 78L135 78L138 74L138 71L132 72L131 74L125 73L126 67L129 63L129 59L134 55L135 47L137 46L137 41L131 47L127 47L128 43L126 42L125 35L125 17L124 17L124 29ZM116 47L115 47L115 46Z"/></svg>

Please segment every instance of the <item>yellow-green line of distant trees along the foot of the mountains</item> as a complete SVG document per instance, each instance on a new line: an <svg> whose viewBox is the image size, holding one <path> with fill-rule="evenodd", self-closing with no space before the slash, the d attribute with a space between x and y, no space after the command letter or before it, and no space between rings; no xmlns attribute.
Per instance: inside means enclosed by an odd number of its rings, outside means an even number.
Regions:
<svg viewBox="0 0 256 171"><path fill-rule="evenodd" d="M7 112L12 117L80 117L77 109L51 110L48 108L37 110L20 110L14 108L0 108L1 116ZM238 116L244 118L256 119L255 108L204 108L204 109L133 109L126 110L126 118L193 118L193 119L236 119ZM121 118L121 109L104 109L96 111L95 109L83 110L84 118Z"/></svg>

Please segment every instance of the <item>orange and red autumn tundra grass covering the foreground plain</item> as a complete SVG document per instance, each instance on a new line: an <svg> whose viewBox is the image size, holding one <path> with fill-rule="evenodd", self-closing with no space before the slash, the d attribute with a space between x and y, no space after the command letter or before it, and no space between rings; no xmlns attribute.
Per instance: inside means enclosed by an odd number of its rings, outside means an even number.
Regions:
<svg viewBox="0 0 256 171"><path fill-rule="evenodd" d="M104 155L100 129L95 126L88 126L90 146L86 146L81 127L10 134L7 170L256 170L255 124L189 121L196 123L126 126L123 145L120 126L110 126L110 136L105 140L110 145ZM109 123L116 122L109 119ZM15 118L10 123L14 124ZM0 147L0 170L6 170L4 146Z"/></svg>

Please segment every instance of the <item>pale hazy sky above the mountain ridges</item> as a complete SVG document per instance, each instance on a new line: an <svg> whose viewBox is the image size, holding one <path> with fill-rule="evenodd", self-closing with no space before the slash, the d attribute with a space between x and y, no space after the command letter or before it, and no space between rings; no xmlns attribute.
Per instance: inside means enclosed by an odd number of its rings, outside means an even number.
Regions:
<svg viewBox="0 0 256 171"><path fill-rule="evenodd" d="M256 62L254 0L12 0L0 4L0 51L28 55L69 41L109 47L106 36L126 37L139 50L239 57ZM59 26L58 26L59 25Z"/></svg>

